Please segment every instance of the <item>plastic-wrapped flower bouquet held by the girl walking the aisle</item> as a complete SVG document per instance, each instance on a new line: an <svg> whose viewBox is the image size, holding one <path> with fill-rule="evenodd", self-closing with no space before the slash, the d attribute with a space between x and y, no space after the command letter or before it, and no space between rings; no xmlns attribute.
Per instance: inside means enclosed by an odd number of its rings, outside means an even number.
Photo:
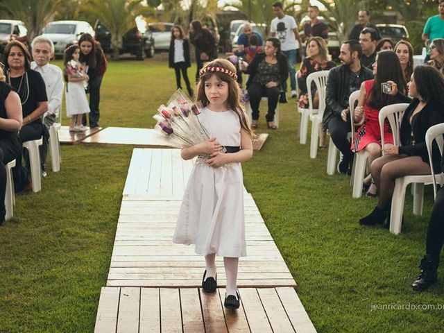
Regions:
<svg viewBox="0 0 444 333"><path fill-rule="evenodd" d="M211 138L198 115L202 105L191 102L185 93L178 89L167 105L160 105L154 119L155 130L168 137L172 146L180 148L194 146Z"/></svg>

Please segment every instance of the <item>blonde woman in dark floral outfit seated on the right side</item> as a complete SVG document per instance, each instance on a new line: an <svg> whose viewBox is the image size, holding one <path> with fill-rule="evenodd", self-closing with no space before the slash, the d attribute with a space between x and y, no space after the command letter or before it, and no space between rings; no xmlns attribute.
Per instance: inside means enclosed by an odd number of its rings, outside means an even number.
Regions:
<svg viewBox="0 0 444 333"><path fill-rule="evenodd" d="M328 54L327 43L321 37L311 37L307 42L307 58L302 61L298 71L299 87L299 108L307 109L309 107L307 77L316 71L328 71L336 66L336 63L330 61L332 57ZM319 96L316 91L316 85L311 85L311 96L313 96L313 108L319 106ZM325 148L325 131L321 131L319 136L319 146Z"/></svg>

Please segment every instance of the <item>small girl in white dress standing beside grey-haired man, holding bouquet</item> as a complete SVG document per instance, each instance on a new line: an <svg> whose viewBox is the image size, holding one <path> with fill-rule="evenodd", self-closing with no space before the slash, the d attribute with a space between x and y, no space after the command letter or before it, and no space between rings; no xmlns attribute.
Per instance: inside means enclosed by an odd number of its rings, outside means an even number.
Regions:
<svg viewBox="0 0 444 333"><path fill-rule="evenodd" d="M70 132L85 132L88 128L83 126L83 114L89 112L89 104L85 92L85 82L89 79L85 69L78 62L80 49L78 44L71 44L65 49L64 76L67 81L66 105L67 116L71 118Z"/></svg>

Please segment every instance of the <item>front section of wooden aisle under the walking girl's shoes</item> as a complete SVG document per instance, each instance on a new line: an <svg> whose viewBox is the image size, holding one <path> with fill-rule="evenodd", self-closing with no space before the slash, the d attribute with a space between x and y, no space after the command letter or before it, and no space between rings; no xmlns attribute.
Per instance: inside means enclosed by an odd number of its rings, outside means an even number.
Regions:
<svg viewBox="0 0 444 333"><path fill-rule="evenodd" d="M103 287L94 332L316 332L293 288L240 288L237 310L223 307L224 295L221 288Z"/></svg>

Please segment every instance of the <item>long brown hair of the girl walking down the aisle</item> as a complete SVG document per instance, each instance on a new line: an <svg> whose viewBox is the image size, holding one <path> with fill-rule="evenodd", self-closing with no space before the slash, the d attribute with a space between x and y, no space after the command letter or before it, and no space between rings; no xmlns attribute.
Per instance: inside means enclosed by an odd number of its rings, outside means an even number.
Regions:
<svg viewBox="0 0 444 333"><path fill-rule="evenodd" d="M223 69L228 69L232 71L234 74L236 73L236 67L225 59L216 59L211 62L207 62L203 68L206 67L220 67ZM210 101L207 99L207 95L205 94L205 82L209 80L213 75L215 75L219 80L228 83L228 99L227 99L227 107L230 110L236 112L239 117L239 121L241 123L241 128L246 131L251 137L253 137L253 131L250 128L250 122L248 121L248 116L245 112L244 107L241 105L241 89L237 84L236 80L229 76L228 74L221 72L209 72L200 76L199 83L197 85L197 94L196 94L196 103L200 102L205 107L210 104Z"/></svg>

